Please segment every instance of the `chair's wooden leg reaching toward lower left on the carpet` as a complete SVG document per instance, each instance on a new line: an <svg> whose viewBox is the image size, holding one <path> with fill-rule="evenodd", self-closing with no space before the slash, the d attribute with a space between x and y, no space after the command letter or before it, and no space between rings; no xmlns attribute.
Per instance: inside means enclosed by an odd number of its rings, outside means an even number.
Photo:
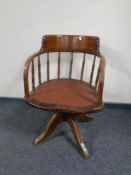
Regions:
<svg viewBox="0 0 131 175"><path fill-rule="evenodd" d="M63 117L61 113L54 113L51 119L48 121L46 127L43 129L42 133L34 139L33 145L37 145L44 141L52 132L55 130L57 125L63 121Z"/></svg>

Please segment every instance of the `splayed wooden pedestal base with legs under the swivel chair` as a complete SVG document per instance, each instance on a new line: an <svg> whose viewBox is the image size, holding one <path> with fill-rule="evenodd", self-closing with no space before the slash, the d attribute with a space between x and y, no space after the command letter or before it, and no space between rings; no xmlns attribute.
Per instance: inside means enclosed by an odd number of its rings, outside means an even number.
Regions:
<svg viewBox="0 0 131 175"><path fill-rule="evenodd" d="M82 122L88 122L94 119L93 117L85 114L77 114L77 116L78 116L78 119ZM46 127L43 129L42 133L37 138L35 138L35 140L33 141L33 144L37 145L42 141L44 141L49 135L53 133L57 125L63 121L66 121L69 124L72 130L72 133L74 135L74 138L80 147L82 156L85 159L88 159L89 157L88 150L84 144L83 137L81 135L76 119L74 115L71 113L55 112L53 116L50 118L50 120L48 121Z"/></svg>

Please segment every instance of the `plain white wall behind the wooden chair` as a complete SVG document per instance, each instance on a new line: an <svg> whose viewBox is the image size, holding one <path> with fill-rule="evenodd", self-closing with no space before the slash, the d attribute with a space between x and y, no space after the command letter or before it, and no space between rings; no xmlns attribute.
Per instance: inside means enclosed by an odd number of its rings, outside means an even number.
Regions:
<svg viewBox="0 0 131 175"><path fill-rule="evenodd" d="M0 0L0 96L23 97L23 67L44 34L97 35L104 101L131 103L130 0Z"/></svg>

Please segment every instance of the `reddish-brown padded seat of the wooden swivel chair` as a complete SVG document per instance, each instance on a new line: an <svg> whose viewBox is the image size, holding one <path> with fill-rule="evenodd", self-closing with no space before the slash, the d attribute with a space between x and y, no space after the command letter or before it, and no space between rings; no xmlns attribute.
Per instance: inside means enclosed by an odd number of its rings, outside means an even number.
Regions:
<svg viewBox="0 0 131 175"><path fill-rule="evenodd" d="M47 110L88 112L99 108L93 87L80 80L50 80L38 86L27 100L32 105Z"/></svg>

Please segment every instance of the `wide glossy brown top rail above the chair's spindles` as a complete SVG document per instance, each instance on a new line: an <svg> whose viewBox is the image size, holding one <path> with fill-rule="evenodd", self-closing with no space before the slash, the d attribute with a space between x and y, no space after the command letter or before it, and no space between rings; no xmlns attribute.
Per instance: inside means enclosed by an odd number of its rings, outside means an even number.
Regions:
<svg viewBox="0 0 131 175"><path fill-rule="evenodd" d="M45 35L40 51L82 52L99 55L99 37L84 35Z"/></svg>

